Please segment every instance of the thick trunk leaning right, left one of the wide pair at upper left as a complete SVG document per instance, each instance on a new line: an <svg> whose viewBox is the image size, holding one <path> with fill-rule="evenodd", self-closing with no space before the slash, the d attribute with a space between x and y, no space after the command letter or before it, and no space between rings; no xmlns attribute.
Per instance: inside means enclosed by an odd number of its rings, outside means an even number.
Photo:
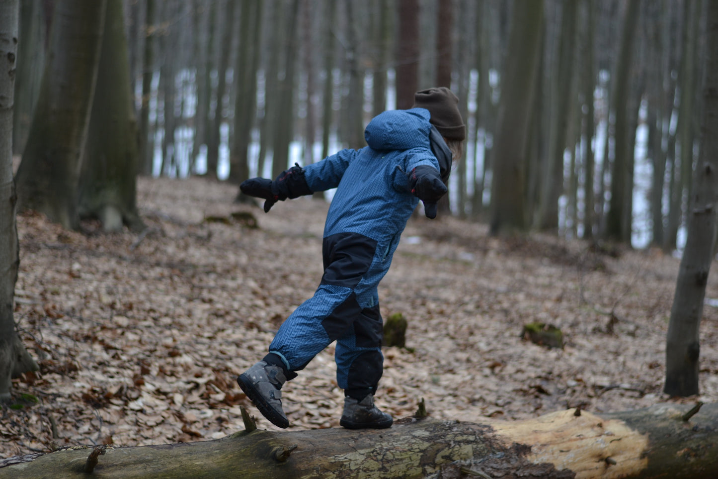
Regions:
<svg viewBox="0 0 718 479"><path fill-rule="evenodd" d="M102 43L104 0L55 5L50 53L17 172L18 206L78 227L77 188Z"/></svg>

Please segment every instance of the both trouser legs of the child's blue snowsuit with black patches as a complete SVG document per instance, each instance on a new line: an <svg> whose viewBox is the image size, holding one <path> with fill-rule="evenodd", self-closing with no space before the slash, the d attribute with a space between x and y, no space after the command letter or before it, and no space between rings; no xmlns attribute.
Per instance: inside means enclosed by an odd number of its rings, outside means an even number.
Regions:
<svg viewBox="0 0 718 479"><path fill-rule="evenodd" d="M288 370L302 370L337 340L340 388L376 391L383 371L383 324L376 286L386 273L373 271L381 268L376 253L376 241L361 234L325 238L325 273L319 288L284 321L269 346Z"/></svg>

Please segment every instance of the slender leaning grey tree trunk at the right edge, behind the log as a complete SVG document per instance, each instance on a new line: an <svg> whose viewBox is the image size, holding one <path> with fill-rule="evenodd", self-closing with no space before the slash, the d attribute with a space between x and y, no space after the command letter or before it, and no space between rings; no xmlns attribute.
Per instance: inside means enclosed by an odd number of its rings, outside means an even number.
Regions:
<svg viewBox="0 0 718 479"><path fill-rule="evenodd" d="M718 3L709 2L703 122L688 238L673 297L666 340L666 386L673 396L698 393L699 327L716 242L718 202Z"/></svg>

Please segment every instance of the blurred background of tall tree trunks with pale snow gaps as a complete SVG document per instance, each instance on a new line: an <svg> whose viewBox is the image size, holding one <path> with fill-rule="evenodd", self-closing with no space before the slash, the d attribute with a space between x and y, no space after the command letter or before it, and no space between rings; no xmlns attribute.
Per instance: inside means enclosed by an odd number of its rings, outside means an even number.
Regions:
<svg viewBox="0 0 718 479"><path fill-rule="evenodd" d="M17 155L45 58L69 45L50 27L87 10L81 1L20 3ZM684 242L705 1L113 3L123 8L139 147L124 170L237 184L274 178L295 162L363 147L373 115L411 107L421 88L450 86L467 142L444 214L490 222L493 232L538 229L666 250ZM18 183L22 204L29 188L22 175ZM82 204L79 214L96 210Z"/></svg>

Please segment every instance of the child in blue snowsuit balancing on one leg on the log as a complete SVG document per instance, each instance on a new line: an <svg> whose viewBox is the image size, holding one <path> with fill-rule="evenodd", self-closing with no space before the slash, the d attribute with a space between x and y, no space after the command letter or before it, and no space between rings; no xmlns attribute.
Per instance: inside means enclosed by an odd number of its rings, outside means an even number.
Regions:
<svg viewBox="0 0 718 479"><path fill-rule="evenodd" d="M364 137L368 146L361 150L296 165L275 181L251 178L241 184L243 193L265 200L265 212L276 201L337 188L325 224L320 286L284 321L269 354L237 379L279 427L289 426L281 387L332 341L337 383L345 391L341 426L381 429L393 422L373 401L383 372L377 286L419 199L426 216L436 217L452 154L462 154L465 126L454 93L429 88L415 94L412 109L373 118Z"/></svg>

